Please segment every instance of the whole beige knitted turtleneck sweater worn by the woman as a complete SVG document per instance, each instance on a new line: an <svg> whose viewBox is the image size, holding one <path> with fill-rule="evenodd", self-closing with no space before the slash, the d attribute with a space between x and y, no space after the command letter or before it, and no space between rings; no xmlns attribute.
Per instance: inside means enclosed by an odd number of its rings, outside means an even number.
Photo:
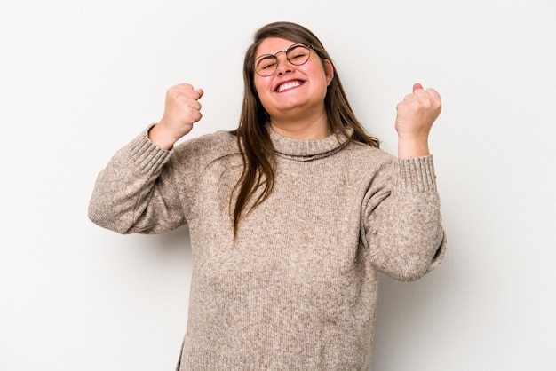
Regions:
<svg viewBox="0 0 556 371"><path fill-rule="evenodd" d="M235 242L230 193L242 160L225 131L171 151L141 133L99 174L89 216L118 233L188 225L179 370L368 371L379 272L416 280L444 256L433 158L270 133L274 191Z"/></svg>

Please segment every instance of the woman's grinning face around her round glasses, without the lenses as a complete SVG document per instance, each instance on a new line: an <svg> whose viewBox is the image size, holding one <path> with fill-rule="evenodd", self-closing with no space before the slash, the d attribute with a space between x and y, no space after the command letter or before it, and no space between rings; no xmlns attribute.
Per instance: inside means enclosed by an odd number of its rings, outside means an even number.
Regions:
<svg viewBox="0 0 556 371"><path fill-rule="evenodd" d="M258 46L255 59L287 51L294 43L277 37L266 38ZM285 52L279 52L276 58L278 66L274 74L265 77L253 73L255 89L271 121L297 118L300 114L322 114L324 97L333 75L330 61L326 60L323 67L314 51L300 66L290 63Z"/></svg>

